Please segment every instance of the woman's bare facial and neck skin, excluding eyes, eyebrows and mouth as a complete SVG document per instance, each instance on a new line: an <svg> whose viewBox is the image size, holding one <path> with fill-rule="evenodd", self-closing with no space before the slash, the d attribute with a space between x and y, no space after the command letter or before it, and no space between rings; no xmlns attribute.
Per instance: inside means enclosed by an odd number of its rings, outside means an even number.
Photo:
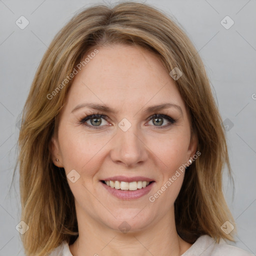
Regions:
<svg viewBox="0 0 256 256"><path fill-rule="evenodd" d="M123 44L98 50L75 76L51 139L54 164L64 167L66 174L75 169L80 175L74 183L67 179L75 198L79 231L69 245L70 252L74 256L181 255L191 244L176 232L173 204L184 173L154 202L148 197L195 153L196 141L190 133L184 101L154 54ZM79 120L96 114L96 110L83 107L71 113L84 102L105 104L117 112L99 111L108 119L101 118L101 129L93 129ZM182 114L175 107L143 112L148 106L166 102L179 105ZM154 118L147 117L159 112L176 118L176 122L157 128ZM125 132L118 127L123 118L131 123ZM161 126L169 123L165 118L160 120ZM86 123L94 124L90 120ZM99 181L114 175L146 176L155 183L148 194L122 200ZM127 233L118 228L123 221L130 226Z"/></svg>

